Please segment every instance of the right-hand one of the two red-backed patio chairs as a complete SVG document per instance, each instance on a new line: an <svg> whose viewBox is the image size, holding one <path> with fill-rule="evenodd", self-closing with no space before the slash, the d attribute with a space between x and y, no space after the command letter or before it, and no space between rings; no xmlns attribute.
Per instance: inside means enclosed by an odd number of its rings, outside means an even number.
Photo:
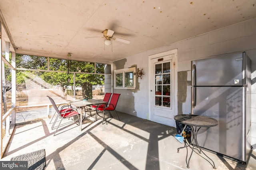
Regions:
<svg viewBox="0 0 256 170"><path fill-rule="evenodd" d="M106 121L106 117L105 117L106 111L108 111L108 113L110 114L110 117L113 117L110 111L115 111L116 112L116 105L117 105L119 96L120 96L120 94L117 94L117 93L112 94L112 97L110 99L109 104L107 104L107 106L105 107L102 124L104 123L104 120ZM104 107L97 107L96 108L97 113L98 113L98 111L103 111L103 110L104 110ZM116 112L116 115L117 115L118 119L120 120L117 112ZM106 124L107 124L107 121L106 121Z"/></svg>

